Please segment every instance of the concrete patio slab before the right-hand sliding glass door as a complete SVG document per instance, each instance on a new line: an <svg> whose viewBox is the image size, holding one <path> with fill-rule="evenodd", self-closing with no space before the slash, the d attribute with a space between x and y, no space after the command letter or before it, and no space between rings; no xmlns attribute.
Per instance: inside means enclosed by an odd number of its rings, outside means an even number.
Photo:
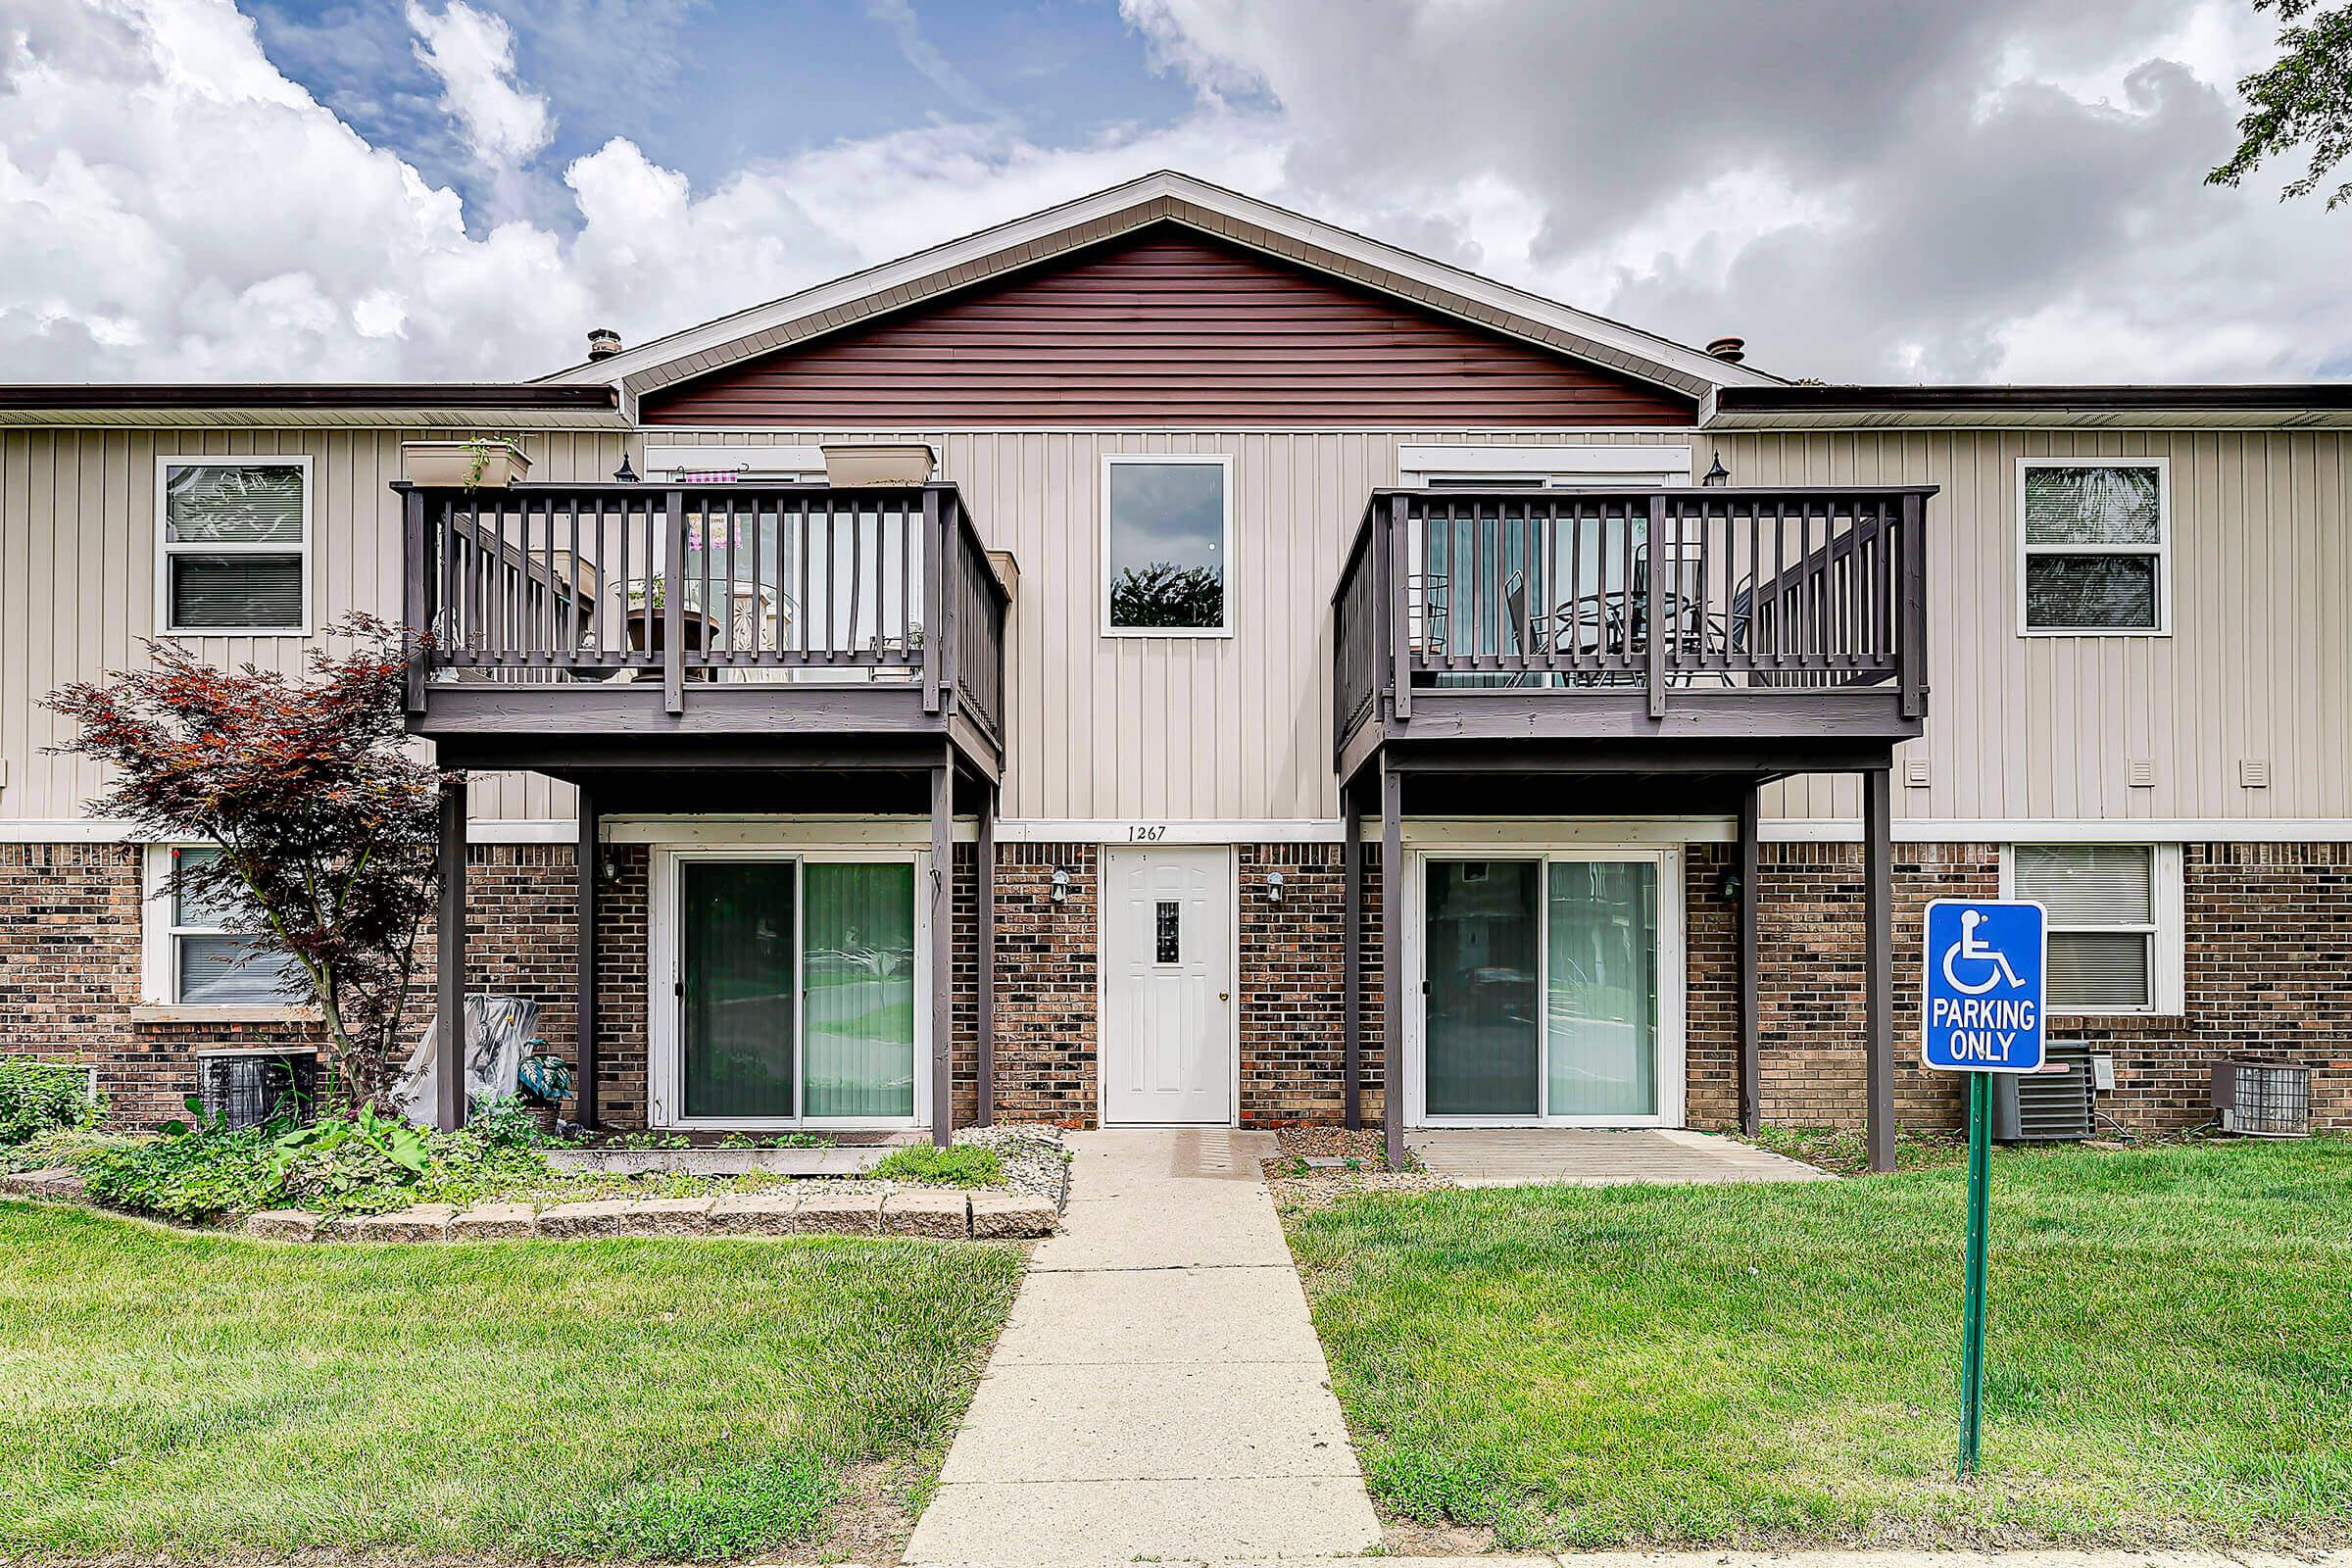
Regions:
<svg viewBox="0 0 2352 1568"><path fill-rule="evenodd" d="M1837 1180L1722 1133L1679 1128L1423 1128L1404 1140L1456 1187Z"/></svg>

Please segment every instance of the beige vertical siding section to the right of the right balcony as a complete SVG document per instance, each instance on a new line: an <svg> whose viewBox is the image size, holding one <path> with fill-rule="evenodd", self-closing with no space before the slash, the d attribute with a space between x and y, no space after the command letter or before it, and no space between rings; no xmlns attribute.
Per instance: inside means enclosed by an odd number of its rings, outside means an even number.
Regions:
<svg viewBox="0 0 2352 1568"><path fill-rule="evenodd" d="M1957 430L1722 435L1736 484L1929 482L1929 788L1910 818L2352 816L2352 512L2333 430ZM2171 637L2020 637L2020 456L2171 465ZM2154 766L2131 788L2131 759ZM2239 759L2270 788L2239 785ZM1844 778L1802 778L1769 816L1860 813Z"/></svg>

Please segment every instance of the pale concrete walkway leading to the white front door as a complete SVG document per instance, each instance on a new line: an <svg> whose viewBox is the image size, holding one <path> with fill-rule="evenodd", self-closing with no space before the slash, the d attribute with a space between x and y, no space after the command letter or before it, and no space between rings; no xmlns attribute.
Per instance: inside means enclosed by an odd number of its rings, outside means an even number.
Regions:
<svg viewBox="0 0 2352 1568"><path fill-rule="evenodd" d="M1258 1159L1268 1133L1070 1140L908 1563L1343 1556L1381 1523Z"/></svg>

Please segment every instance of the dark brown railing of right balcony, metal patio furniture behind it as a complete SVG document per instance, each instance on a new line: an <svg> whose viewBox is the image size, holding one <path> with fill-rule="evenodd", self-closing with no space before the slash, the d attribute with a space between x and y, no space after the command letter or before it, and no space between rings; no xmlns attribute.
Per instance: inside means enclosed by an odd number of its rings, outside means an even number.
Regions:
<svg viewBox="0 0 2352 1568"><path fill-rule="evenodd" d="M1889 489L1376 491L1334 611L1336 745L1416 696L1886 686L1924 712L1924 503Z"/></svg>

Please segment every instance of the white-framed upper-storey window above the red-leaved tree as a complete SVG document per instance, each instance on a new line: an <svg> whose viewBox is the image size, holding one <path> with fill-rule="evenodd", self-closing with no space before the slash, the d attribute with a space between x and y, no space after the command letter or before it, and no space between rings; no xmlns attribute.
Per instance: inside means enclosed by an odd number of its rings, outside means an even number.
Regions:
<svg viewBox="0 0 2352 1568"><path fill-rule="evenodd" d="M310 458L162 458L158 623L301 635L310 604Z"/></svg>

